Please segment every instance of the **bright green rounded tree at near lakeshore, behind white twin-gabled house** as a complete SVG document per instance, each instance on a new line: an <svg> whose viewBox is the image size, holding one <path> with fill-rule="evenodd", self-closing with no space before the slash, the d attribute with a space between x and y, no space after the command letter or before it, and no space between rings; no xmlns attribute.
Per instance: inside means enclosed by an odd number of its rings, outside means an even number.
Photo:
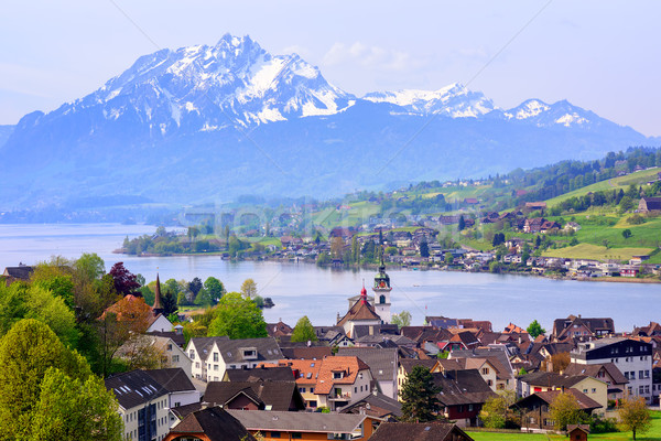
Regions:
<svg viewBox="0 0 661 441"><path fill-rule="evenodd" d="M266 337L267 323L259 308L238 292L229 292L212 310L208 336L227 335L230 338Z"/></svg>

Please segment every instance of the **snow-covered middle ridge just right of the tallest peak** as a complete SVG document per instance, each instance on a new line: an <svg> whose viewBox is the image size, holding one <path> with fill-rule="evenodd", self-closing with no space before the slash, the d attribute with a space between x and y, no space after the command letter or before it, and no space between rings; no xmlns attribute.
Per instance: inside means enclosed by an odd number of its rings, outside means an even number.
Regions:
<svg viewBox="0 0 661 441"><path fill-rule="evenodd" d="M438 90L403 89L398 92L375 92L364 99L372 103L390 103L413 114L438 114L452 118L480 117L494 110L494 103L479 92L455 83Z"/></svg>

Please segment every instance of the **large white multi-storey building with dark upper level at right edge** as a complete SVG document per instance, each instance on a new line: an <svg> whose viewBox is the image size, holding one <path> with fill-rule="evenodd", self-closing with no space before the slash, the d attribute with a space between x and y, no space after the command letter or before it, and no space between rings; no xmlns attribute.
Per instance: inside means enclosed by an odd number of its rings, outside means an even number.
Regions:
<svg viewBox="0 0 661 441"><path fill-rule="evenodd" d="M570 353L572 363L597 365L614 363L629 380L629 395L652 400L652 344L624 337L600 338L579 343Z"/></svg>

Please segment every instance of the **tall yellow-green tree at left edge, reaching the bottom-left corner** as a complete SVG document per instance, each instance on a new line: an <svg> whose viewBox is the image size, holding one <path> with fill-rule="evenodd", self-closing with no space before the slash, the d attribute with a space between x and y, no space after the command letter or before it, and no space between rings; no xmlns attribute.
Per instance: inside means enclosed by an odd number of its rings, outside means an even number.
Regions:
<svg viewBox="0 0 661 441"><path fill-rule="evenodd" d="M87 362L67 349L48 325L21 320L0 341L0 439L29 440L48 369L87 379Z"/></svg>

